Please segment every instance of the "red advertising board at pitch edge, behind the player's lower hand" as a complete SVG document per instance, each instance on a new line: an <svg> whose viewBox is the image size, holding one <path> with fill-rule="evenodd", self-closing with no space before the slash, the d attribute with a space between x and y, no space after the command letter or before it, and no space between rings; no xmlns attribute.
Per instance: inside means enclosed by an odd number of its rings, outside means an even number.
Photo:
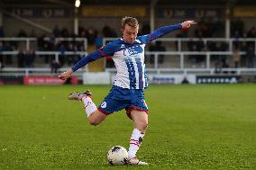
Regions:
<svg viewBox="0 0 256 170"><path fill-rule="evenodd" d="M66 81L59 79L58 76L24 76L24 85L64 85ZM72 76L70 84L77 85L78 77Z"/></svg>

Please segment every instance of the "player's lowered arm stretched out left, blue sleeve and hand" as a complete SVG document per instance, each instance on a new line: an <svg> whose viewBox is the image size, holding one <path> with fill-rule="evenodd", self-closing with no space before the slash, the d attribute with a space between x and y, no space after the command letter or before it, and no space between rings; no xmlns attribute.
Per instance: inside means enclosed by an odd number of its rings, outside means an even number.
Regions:
<svg viewBox="0 0 256 170"><path fill-rule="evenodd" d="M59 78L62 80L66 80L69 78L73 72L77 71L80 67L84 67L87 63L95 61L98 58L103 58L105 56L112 56L113 51L109 48L109 46L105 46L102 49L97 49L93 53L87 55L87 57L80 59L73 67L69 68L67 71L59 75Z"/></svg>

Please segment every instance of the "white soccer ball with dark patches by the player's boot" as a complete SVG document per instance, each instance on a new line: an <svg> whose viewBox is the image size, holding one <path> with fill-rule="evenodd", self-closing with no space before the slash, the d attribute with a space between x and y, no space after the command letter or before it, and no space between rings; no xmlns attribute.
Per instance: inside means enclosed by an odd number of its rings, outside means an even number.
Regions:
<svg viewBox="0 0 256 170"><path fill-rule="evenodd" d="M127 164L128 152L121 146L114 146L107 152L106 157L112 166L122 166Z"/></svg>

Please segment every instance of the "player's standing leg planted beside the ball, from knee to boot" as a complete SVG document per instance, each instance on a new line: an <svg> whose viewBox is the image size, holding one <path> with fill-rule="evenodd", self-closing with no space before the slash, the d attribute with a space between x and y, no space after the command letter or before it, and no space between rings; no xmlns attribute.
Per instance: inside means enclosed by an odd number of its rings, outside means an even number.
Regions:
<svg viewBox="0 0 256 170"><path fill-rule="evenodd" d="M147 163L140 161L136 157L136 153L142 145L142 140L148 127L148 114L147 112L133 109L131 111L131 118L134 123L134 130L130 139L130 148L128 151L129 164L147 166Z"/></svg>

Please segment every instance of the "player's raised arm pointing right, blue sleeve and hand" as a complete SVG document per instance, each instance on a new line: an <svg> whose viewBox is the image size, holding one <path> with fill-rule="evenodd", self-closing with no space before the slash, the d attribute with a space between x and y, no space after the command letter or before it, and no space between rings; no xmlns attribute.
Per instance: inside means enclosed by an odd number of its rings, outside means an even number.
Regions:
<svg viewBox="0 0 256 170"><path fill-rule="evenodd" d="M156 40L161 36L168 34L171 31L176 31L178 29L188 29L191 25L194 25L196 23L197 22L194 22L194 21L186 21L186 22L182 22L174 25L163 26L155 31L152 31L150 34L143 36L142 40L145 43L149 43L152 40Z"/></svg>

